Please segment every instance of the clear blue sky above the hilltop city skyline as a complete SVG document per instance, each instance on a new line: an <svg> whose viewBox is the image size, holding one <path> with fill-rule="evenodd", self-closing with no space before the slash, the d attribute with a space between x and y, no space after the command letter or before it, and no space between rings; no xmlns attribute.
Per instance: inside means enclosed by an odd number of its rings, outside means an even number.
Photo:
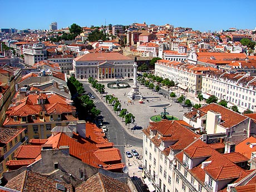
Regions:
<svg viewBox="0 0 256 192"><path fill-rule="evenodd" d="M194 30L255 29L255 0L0 0L0 28L49 29L144 23Z"/></svg>

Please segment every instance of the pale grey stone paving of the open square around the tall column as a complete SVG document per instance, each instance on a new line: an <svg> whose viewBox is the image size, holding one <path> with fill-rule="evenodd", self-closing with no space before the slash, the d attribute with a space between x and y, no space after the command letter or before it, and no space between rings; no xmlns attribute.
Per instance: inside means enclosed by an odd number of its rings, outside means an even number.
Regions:
<svg viewBox="0 0 256 192"><path fill-rule="evenodd" d="M132 86L133 81L129 81L127 83ZM164 95L151 91L142 85L139 85L139 91L142 93L142 96L145 97L144 104L140 104L139 100L131 101L127 97L127 93L131 91L131 87L111 89L107 87L107 82L103 82L103 84L105 85L105 92L107 92L108 95L114 95L117 97L121 103L122 109L127 109L128 112L135 116L134 124L130 124L130 126L125 125L124 122L122 122L122 124L126 127L128 132L141 139L142 129L149 126L150 117L164 112L164 106L166 106L166 112L169 112L169 115L178 117L180 120L183 119L184 112L188 112L187 107L183 108L178 103L168 99L168 97L164 97ZM104 99L105 98L103 97L103 100ZM117 117L117 119L121 121L119 117Z"/></svg>

